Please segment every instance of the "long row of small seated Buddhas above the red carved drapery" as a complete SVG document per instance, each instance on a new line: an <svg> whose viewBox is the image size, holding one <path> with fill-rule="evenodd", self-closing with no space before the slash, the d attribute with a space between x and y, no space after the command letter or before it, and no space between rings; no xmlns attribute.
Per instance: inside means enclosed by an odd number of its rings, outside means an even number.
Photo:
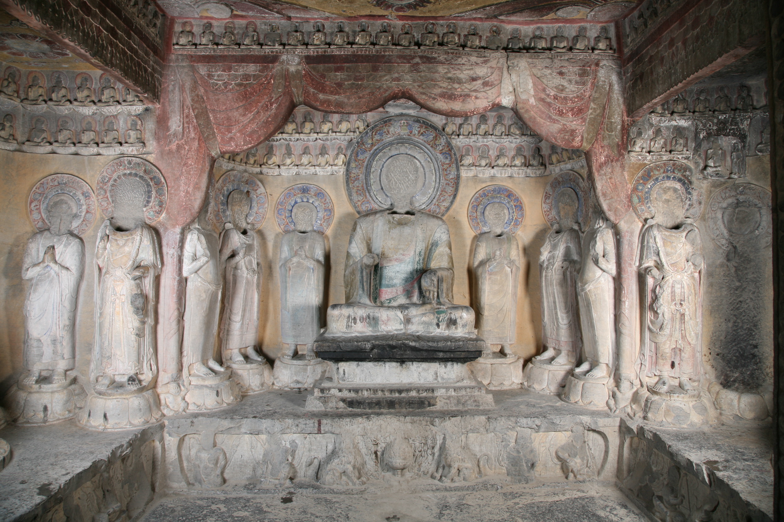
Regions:
<svg viewBox="0 0 784 522"><path fill-rule="evenodd" d="M270 23L269 31L261 37L256 22L245 23L245 31L237 31L234 22L223 24L223 32L216 34L211 22L201 26L201 32L194 33L191 21L185 21L180 26L174 38L174 47L188 48L324 48L324 47L404 47L404 48L434 48L448 47L452 49L488 49L492 51L506 50L513 52L615 52L612 38L607 27L600 27L597 36L591 45L588 37L588 28L579 26L572 38L566 36L566 29L559 25L554 34L549 38L543 26L535 27L529 38L524 38L520 27L513 27L506 41L502 36L503 29L499 25L489 27L489 34L479 34L479 27L471 23L464 34L460 34L457 24L446 24L445 32L439 33L437 24L429 22L424 25L424 30L419 38L414 34L411 23L402 23L397 35L389 22L381 22L379 30L373 34L368 27L368 22L359 22L357 31L346 31L343 22L338 22L336 31L331 36L325 31L325 24L321 21L313 23L313 31L302 31L299 23L294 23L290 31L283 33L278 23ZM285 34L285 36L284 36Z"/></svg>

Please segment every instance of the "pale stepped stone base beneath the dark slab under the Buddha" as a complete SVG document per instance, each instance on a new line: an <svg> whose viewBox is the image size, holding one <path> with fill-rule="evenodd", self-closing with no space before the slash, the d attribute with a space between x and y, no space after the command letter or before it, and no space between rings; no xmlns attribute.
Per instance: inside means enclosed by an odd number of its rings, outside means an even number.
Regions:
<svg viewBox="0 0 784 522"><path fill-rule="evenodd" d="M352 362L336 365L307 398L307 409L493 408L492 394L459 362Z"/></svg>

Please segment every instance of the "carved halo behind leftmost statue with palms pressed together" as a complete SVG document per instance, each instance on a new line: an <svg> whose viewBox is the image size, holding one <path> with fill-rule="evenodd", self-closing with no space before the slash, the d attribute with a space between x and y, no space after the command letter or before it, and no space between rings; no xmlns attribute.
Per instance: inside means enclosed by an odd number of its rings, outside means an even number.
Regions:
<svg viewBox="0 0 784 522"><path fill-rule="evenodd" d="M76 202L76 217L71 230L79 236L93 225L96 199L93 189L82 178L70 174L53 174L36 183L27 200L27 211L38 230L49 228L49 201L57 194L67 194Z"/></svg>

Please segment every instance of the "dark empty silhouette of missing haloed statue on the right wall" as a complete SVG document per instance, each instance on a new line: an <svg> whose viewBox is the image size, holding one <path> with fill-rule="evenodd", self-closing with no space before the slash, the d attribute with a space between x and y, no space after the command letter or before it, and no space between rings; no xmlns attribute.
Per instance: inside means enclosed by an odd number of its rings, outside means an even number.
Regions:
<svg viewBox="0 0 784 522"><path fill-rule="evenodd" d="M771 193L753 183L716 190L706 205L706 312L713 324L708 391L725 422L772 413Z"/></svg>

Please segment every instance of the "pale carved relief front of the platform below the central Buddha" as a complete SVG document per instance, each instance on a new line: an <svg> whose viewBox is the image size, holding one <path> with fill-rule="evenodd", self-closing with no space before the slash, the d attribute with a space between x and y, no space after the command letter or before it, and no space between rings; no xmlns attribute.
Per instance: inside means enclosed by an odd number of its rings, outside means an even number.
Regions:
<svg viewBox="0 0 784 522"><path fill-rule="evenodd" d="M195 427L169 423L169 483L174 488L286 488L323 484L465 484L480 479L608 480L616 427L579 422L566 431L538 432L506 420L321 419L307 431L290 421L258 421L252 429L202 419ZM305 427L304 425L301 427ZM316 428L310 430L310 428ZM204 429L203 431L199 431ZM319 433L320 431L320 433Z"/></svg>

